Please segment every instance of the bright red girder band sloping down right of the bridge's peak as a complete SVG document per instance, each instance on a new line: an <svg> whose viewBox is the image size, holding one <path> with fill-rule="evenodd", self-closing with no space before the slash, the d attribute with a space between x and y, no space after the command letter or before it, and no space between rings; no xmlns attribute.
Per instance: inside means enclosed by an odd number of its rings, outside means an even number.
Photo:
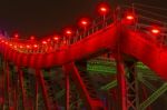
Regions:
<svg viewBox="0 0 167 110"><path fill-rule="evenodd" d="M141 32L124 29L120 39L120 50L141 61L154 70L161 79L167 80L167 50L159 47L153 39Z"/></svg>

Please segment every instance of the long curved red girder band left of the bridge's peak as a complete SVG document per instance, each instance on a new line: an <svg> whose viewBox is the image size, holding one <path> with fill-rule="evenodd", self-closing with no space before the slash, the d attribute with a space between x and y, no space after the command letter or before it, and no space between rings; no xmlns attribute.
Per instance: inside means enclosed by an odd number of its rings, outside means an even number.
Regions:
<svg viewBox="0 0 167 110"><path fill-rule="evenodd" d="M118 29L115 24L111 24L60 51L51 53L20 53L6 47L4 54L9 60L20 67L48 68L52 66L63 66L67 62L76 61L105 49L114 48L118 38L117 33Z"/></svg>

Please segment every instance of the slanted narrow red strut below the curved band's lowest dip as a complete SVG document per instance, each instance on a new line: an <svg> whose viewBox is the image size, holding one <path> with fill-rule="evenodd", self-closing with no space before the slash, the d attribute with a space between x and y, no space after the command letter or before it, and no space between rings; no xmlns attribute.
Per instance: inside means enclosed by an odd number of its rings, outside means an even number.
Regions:
<svg viewBox="0 0 167 110"><path fill-rule="evenodd" d="M37 76L37 80L39 82L39 84L41 86L41 89L42 89L42 97L45 99L45 104L46 104L46 108L47 110L50 110L50 106L49 106L49 98L48 98L48 94L47 94L47 88L45 86L45 80L43 80L43 76L42 76L42 72L38 69L36 69L36 76Z"/></svg>

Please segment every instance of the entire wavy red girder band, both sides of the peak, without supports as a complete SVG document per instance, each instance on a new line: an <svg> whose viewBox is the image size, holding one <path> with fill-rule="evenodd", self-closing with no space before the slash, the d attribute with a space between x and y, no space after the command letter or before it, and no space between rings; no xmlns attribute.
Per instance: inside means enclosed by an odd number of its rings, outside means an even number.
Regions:
<svg viewBox="0 0 167 110"><path fill-rule="evenodd" d="M121 36L118 36L118 32L121 33ZM26 54L9 49L9 47L3 47L4 51L1 52L17 66L45 68L62 66L67 62L90 57L105 49L115 49L119 40L121 52L139 59L163 79L167 79L167 51L166 49L157 47L155 42L146 40L146 37L148 37L146 33L135 32L127 28L119 29L116 24L111 24L70 47L66 47L63 50L52 53Z"/></svg>

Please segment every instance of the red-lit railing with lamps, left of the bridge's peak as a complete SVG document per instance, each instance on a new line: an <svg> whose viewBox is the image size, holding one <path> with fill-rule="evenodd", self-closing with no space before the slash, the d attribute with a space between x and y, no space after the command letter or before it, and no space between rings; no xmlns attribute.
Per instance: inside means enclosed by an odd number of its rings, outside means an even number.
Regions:
<svg viewBox="0 0 167 110"><path fill-rule="evenodd" d="M108 14L106 17L97 18L92 21L92 24L87 28L86 30L77 30L76 33L72 37L62 37L59 40L51 40L47 43L42 43L41 41L37 40L26 40L26 39L17 39L17 38L4 38L3 42L10 48L24 53L45 53L45 52L53 52L63 48L69 47L72 43L76 43L77 41L82 40L86 37L89 37L90 34L99 31L100 29L104 29L108 27L112 22L112 14Z"/></svg>

